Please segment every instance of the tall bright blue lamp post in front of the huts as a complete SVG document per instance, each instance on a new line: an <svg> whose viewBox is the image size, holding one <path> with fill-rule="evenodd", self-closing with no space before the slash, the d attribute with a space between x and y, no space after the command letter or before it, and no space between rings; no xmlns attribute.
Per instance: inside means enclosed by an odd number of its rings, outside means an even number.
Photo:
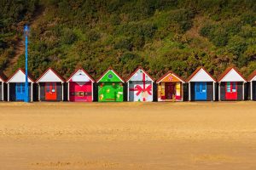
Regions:
<svg viewBox="0 0 256 170"><path fill-rule="evenodd" d="M24 27L24 34L25 34L25 71L26 71L26 77L25 77L25 99L24 101L26 103L29 102L29 95L28 95L28 79L27 79L27 37L28 37L29 28L26 25Z"/></svg>

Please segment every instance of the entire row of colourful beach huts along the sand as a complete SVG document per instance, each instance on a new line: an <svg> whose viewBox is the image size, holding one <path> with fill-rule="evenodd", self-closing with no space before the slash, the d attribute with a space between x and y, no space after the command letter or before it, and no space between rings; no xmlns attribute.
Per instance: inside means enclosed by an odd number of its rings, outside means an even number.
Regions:
<svg viewBox="0 0 256 170"><path fill-rule="evenodd" d="M18 69L7 78L0 75L0 100L25 99L25 71ZM112 68L94 80L84 69L64 79L49 68L34 80L28 76L31 101L121 102L121 101L224 101L256 100L256 71L245 78L235 68L215 79L203 67L186 80L168 71L157 81L138 67L126 81Z"/></svg>

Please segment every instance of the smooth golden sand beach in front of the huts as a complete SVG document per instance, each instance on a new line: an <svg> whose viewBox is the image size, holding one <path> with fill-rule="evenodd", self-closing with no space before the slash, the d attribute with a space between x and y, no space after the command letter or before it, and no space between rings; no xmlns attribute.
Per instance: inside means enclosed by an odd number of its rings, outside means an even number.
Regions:
<svg viewBox="0 0 256 170"><path fill-rule="evenodd" d="M256 169L256 102L0 103L0 169Z"/></svg>

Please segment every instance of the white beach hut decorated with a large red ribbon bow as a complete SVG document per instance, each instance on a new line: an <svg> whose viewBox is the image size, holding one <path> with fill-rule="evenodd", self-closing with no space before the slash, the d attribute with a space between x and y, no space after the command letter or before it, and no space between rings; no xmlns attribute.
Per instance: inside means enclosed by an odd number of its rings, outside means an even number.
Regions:
<svg viewBox="0 0 256 170"><path fill-rule="evenodd" d="M128 101L153 101L154 79L142 67L138 67L126 81Z"/></svg>

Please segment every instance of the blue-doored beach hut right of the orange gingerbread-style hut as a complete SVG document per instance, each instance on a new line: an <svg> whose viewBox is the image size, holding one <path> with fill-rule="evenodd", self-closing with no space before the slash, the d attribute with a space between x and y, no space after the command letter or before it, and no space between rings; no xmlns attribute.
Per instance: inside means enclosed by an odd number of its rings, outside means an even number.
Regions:
<svg viewBox="0 0 256 170"><path fill-rule="evenodd" d="M197 68L186 81L189 83L189 101L215 100L216 80L205 68Z"/></svg>

